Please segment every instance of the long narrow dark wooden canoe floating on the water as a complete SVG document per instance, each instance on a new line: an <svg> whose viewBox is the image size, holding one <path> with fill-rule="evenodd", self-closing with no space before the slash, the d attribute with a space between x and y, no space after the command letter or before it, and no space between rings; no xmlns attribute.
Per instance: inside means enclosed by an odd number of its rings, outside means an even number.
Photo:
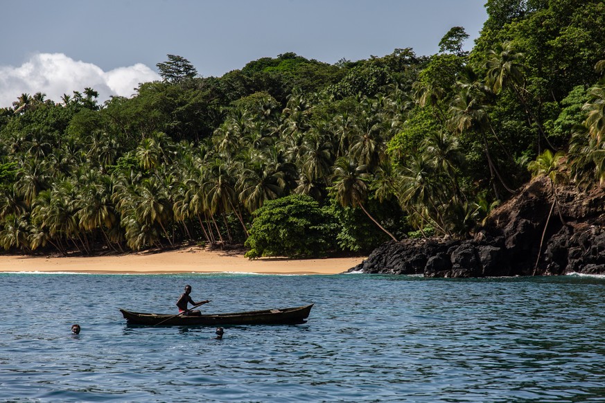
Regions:
<svg viewBox="0 0 605 403"><path fill-rule="evenodd" d="M231 314L207 314L200 316L174 316L168 314L144 314L120 310L130 325L191 326L191 325L286 325L305 323L313 304L304 307L234 312Z"/></svg>

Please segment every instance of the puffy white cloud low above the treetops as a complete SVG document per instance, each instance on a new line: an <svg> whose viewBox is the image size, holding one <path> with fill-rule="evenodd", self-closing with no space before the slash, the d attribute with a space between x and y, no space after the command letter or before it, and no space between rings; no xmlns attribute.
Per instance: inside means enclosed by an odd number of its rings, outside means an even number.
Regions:
<svg viewBox="0 0 605 403"><path fill-rule="evenodd" d="M103 71L92 63L73 60L63 53L37 53L21 66L0 66L0 107L8 107L21 93L46 93L46 99L61 101L64 93L91 87L99 102L109 96L130 97L139 83L159 80L145 64Z"/></svg>

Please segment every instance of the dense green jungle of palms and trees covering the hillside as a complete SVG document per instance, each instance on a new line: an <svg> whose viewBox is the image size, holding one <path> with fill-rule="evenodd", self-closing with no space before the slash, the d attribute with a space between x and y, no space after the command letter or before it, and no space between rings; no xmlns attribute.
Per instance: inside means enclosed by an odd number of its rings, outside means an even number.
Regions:
<svg viewBox="0 0 605 403"><path fill-rule="evenodd" d="M485 7L471 51L454 26L435 55L283 53L222 77L167 55L132 98L23 93L0 109L0 244L367 254L472 238L532 177L561 215L558 187L605 182L605 3Z"/></svg>

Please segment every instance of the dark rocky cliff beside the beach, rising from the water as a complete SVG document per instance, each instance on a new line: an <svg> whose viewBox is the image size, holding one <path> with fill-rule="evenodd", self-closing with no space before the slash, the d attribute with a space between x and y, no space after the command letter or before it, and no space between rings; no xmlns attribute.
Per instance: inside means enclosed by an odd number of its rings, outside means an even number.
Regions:
<svg viewBox="0 0 605 403"><path fill-rule="evenodd" d="M496 208L472 240L387 242L349 271L462 278L605 274L605 190L558 186L556 200L552 208L547 178L534 179Z"/></svg>

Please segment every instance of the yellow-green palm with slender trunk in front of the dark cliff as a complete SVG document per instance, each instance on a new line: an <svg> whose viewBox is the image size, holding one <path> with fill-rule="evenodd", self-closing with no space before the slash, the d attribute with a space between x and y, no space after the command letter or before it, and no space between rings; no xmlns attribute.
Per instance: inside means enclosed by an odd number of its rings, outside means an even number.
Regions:
<svg viewBox="0 0 605 403"><path fill-rule="evenodd" d="M529 172L532 172L533 177L545 176L548 178L550 183L550 189L552 191L552 206L550 207L550 212L548 213L548 217L546 218L546 224L544 224L544 231L542 232L542 238L540 240L540 247L538 248L538 258L536 258L536 265L534 266L534 274L536 273L536 269L538 269L538 262L540 260L540 255L542 251L542 244L544 242L544 237L546 235L546 229L548 227L548 222L550 221L550 216L552 215L553 209L556 207L557 212L559 213L559 219L561 219L561 223L565 225L565 220L563 220L563 215L561 214L561 207L559 206L559 201L556 198L556 190L555 185L562 181L565 176L559 170L561 165L563 164L563 159L565 157L565 153L562 151L557 151L552 154L550 150L545 150L541 155L536 158L536 161L532 161L527 165L527 169Z"/></svg>

